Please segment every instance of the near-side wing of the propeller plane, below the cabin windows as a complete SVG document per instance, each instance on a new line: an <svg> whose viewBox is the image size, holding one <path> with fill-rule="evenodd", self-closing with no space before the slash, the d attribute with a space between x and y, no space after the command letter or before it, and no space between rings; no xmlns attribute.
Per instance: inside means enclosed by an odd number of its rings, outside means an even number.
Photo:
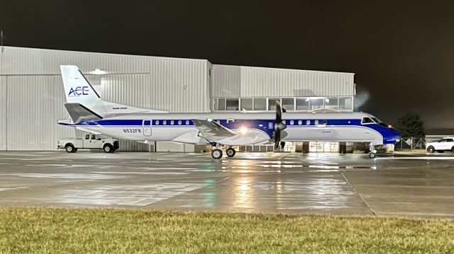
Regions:
<svg viewBox="0 0 454 254"><path fill-rule="evenodd" d="M223 127L211 119L192 119L192 122L194 122L196 128L203 134L203 137L209 141L216 141L236 135L236 132L233 132L233 130Z"/></svg>

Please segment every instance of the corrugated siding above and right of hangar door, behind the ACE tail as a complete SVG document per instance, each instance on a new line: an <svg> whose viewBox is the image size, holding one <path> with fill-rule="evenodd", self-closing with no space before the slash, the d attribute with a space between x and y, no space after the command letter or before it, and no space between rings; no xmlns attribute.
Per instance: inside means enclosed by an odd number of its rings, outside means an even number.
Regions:
<svg viewBox="0 0 454 254"><path fill-rule="evenodd" d="M208 61L167 57L143 57L121 54L39 50L5 47L0 74L59 75L61 64L77 65L82 72L94 69L108 71L107 75L87 75L104 79L107 85L120 88L109 91L103 98L118 103L129 100L130 105L171 112L209 112L209 91L206 89ZM138 83L137 83L138 82ZM128 97L128 90L137 97ZM145 93L144 93L145 91ZM102 93L100 93L103 96Z"/></svg>

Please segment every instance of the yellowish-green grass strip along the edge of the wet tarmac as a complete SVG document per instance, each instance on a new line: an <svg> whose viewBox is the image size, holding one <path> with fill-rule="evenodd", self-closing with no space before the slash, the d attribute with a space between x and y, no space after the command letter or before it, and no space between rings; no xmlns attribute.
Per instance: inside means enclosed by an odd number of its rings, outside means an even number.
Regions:
<svg viewBox="0 0 454 254"><path fill-rule="evenodd" d="M0 209L0 253L454 253L452 220Z"/></svg>

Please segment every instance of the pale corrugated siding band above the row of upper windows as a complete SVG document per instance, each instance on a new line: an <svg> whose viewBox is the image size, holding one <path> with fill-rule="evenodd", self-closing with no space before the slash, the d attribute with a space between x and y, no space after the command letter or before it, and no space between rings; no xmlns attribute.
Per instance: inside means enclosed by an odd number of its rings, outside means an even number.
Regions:
<svg viewBox="0 0 454 254"><path fill-rule="evenodd" d="M213 65L213 97L354 96L354 74Z"/></svg>

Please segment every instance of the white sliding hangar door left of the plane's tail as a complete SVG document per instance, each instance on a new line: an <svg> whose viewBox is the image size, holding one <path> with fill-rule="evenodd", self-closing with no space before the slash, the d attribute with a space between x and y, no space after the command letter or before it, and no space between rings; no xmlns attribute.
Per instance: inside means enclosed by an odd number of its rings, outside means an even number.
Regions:
<svg viewBox="0 0 454 254"><path fill-rule="evenodd" d="M74 129L57 125L67 119L60 76L8 76L8 150L55 150L57 139Z"/></svg>

